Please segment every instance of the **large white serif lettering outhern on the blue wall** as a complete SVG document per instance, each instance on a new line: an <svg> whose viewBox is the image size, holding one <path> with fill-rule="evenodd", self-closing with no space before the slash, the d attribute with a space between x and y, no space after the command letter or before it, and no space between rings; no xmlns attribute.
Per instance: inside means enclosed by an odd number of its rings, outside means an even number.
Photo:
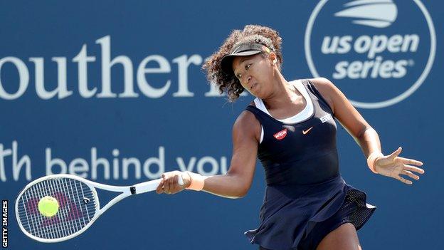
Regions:
<svg viewBox="0 0 444 250"><path fill-rule="evenodd" d="M90 86L88 88L88 63L94 63L96 61L95 56L88 56L88 48L86 44L83 44L79 53L72 59L73 63L77 63L78 68L78 93L82 98L138 98L139 93L134 90L134 68L131 58L125 55L115 56L111 58L111 36L103 36L95 41L100 46L100 69L102 76L102 83L100 84L100 92L97 93L97 86ZM68 90L67 86L67 58L66 57L52 57L52 61L57 63L58 85L54 90L46 90L45 77L44 77L44 58L43 57L30 57L29 61L33 63L33 69L35 71L35 88L36 94L43 100L55 98L58 99L68 98L73 95L73 90ZM157 67L148 67L148 63L157 63ZM177 90L172 93L174 98L186 98L194 97L194 93L189 90L188 75L192 66L199 69L203 58L200 55L194 54L191 56L181 55L173 58L171 63L177 64ZM14 93L7 93L3 88L4 85L14 85L14 83L4 83L1 81L1 68L5 63L12 63L18 71L18 88ZM161 55L152 55L145 57L137 66L136 78L137 87L147 98L162 98L171 89L171 63ZM113 66L120 65L123 68L123 93L112 92L112 79L111 70L115 68ZM119 71L118 68L114 69ZM149 83L149 74L165 74L166 81L161 88L154 88ZM3 74L4 75L4 74ZM23 93L26 92L29 85L29 71L28 67L20 58L13 56L7 56L0 59L0 98L4 100L14 100L21 98ZM247 95L246 92L243 95ZM223 95L218 93L216 86L210 85L210 90L204 94L206 97L221 97Z"/></svg>

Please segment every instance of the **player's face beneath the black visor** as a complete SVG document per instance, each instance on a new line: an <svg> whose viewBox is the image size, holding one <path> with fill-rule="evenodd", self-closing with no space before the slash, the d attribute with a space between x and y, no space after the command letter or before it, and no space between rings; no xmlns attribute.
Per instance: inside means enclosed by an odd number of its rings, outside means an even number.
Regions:
<svg viewBox="0 0 444 250"><path fill-rule="evenodd" d="M233 59L233 71L240 84L252 95L266 98L272 90L273 64L268 56L236 56Z"/></svg>

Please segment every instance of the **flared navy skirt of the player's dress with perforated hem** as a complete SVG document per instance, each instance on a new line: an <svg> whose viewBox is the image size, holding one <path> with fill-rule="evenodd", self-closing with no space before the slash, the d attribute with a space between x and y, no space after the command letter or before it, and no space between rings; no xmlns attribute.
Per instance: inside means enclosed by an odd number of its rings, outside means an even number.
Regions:
<svg viewBox="0 0 444 250"><path fill-rule="evenodd" d="M317 184L269 185L260 208L260 225L245 235L264 249L316 249L341 224L350 222L360 229L375 209L366 203L364 192L340 175Z"/></svg>

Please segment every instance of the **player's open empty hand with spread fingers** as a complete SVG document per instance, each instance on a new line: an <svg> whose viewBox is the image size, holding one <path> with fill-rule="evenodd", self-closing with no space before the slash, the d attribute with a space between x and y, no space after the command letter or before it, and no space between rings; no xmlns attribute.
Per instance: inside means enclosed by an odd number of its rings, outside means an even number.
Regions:
<svg viewBox="0 0 444 250"><path fill-rule="evenodd" d="M413 184L411 180L404 179L400 175L406 175L412 179L418 180L419 176L413 174L413 172L417 172L422 175L424 170L419 167L414 167L413 165L422 166L423 162L398 157L398 155L401 154L401 150L402 148L398 147L398 149L395 152L392 152L391 155L386 155L376 159L374 162L374 170L376 170L376 172L378 172L380 175L398 179L406 184Z"/></svg>

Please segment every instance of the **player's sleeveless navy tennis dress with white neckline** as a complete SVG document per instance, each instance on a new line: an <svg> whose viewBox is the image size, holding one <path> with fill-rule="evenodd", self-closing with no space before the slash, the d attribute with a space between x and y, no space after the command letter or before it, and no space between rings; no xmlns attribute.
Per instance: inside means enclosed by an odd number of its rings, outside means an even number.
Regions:
<svg viewBox="0 0 444 250"><path fill-rule="evenodd" d="M316 249L344 223L360 229L376 209L339 174L337 125L327 102L309 80L290 84L307 100L297 114L302 120L276 120L258 98L246 108L262 126L258 158L267 187L260 225L245 232L260 249Z"/></svg>

